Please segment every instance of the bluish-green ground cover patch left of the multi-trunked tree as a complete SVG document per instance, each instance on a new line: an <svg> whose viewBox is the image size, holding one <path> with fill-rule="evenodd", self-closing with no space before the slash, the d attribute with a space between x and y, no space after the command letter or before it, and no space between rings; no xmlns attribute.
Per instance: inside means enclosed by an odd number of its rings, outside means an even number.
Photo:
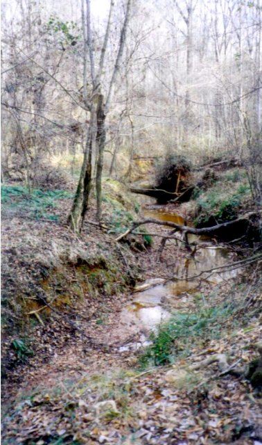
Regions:
<svg viewBox="0 0 262 445"><path fill-rule="evenodd" d="M24 186L1 186L1 203L3 205L10 209L26 211L36 219L58 220L58 215L52 213L52 210L58 207L58 200L71 196L71 193L64 190L42 191L35 188L28 191Z"/></svg>

